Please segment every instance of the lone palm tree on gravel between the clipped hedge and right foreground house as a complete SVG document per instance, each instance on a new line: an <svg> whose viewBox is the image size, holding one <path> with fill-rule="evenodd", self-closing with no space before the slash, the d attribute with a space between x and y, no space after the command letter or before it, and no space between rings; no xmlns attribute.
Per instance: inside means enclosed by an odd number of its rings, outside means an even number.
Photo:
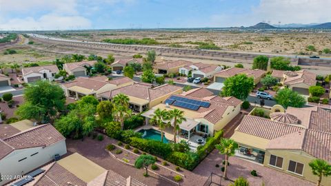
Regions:
<svg viewBox="0 0 331 186"><path fill-rule="evenodd" d="M225 154L225 167L224 167L224 179L228 179L226 176L226 169L228 167L228 159L234 155L234 150L238 149L238 144L232 139L221 138L219 144L215 145L215 148L219 150L219 154Z"/></svg>

